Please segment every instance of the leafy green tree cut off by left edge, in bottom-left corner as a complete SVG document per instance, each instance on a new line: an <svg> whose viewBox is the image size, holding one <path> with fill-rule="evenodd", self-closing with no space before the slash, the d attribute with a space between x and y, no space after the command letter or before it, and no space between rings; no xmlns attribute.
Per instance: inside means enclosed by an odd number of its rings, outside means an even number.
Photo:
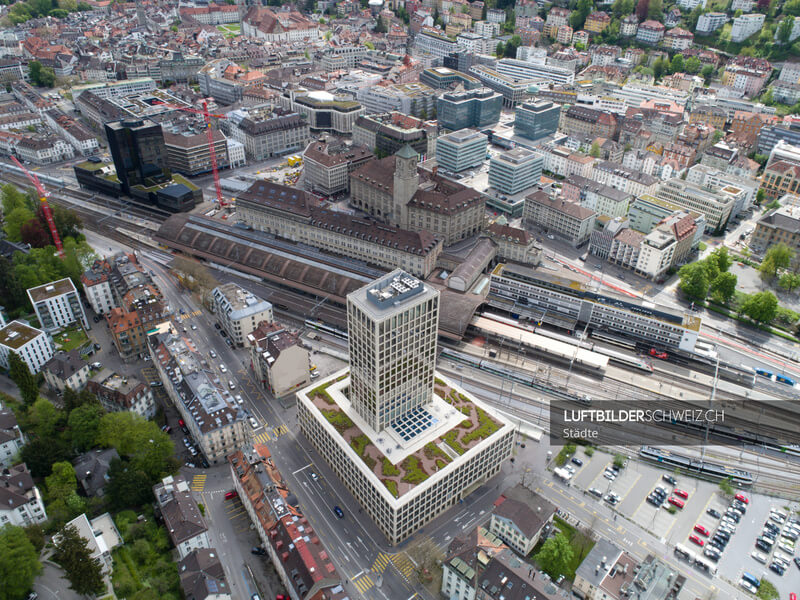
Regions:
<svg viewBox="0 0 800 600"><path fill-rule="evenodd" d="M41 570L39 553L22 527L0 528L0 600L24 598Z"/></svg>

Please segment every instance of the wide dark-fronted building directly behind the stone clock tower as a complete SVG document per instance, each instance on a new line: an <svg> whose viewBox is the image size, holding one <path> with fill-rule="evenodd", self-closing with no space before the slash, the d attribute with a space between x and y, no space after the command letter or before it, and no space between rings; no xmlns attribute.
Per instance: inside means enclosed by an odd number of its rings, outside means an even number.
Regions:
<svg viewBox="0 0 800 600"><path fill-rule="evenodd" d="M353 144L386 155L395 154L410 145L422 157L436 151L438 125L399 112L384 115L362 115L353 124Z"/></svg>

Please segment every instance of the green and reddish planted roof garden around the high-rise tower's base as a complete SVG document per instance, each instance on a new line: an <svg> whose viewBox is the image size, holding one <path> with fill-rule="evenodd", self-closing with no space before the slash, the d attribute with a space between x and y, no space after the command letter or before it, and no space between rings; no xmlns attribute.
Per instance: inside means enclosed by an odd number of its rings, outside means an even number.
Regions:
<svg viewBox="0 0 800 600"><path fill-rule="evenodd" d="M314 405L331 423L336 431L350 444L364 464L380 479L395 497L422 483L439 469L467 452L500 429L500 423L475 406L469 398L448 386L442 379L435 380L436 394L464 415L464 420L443 436L427 443L423 448L407 456L398 464L392 462L370 441L333 400L328 387L343 380L342 375L312 389L308 396Z"/></svg>

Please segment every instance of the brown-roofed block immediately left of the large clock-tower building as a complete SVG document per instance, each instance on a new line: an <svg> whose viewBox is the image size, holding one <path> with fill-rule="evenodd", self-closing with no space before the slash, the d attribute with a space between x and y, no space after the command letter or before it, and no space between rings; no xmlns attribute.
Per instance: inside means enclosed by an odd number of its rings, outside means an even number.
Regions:
<svg viewBox="0 0 800 600"><path fill-rule="evenodd" d="M373 160L366 146L346 144L342 139L311 142L303 152L303 183L312 192L332 196L350 190L350 173Z"/></svg>

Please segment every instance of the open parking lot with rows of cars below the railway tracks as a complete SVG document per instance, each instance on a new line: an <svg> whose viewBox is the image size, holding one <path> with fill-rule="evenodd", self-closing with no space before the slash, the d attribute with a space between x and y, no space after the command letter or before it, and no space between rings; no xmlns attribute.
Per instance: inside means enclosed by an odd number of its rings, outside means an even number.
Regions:
<svg viewBox="0 0 800 600"><path fill-rule="evenodd" d="M747 493L749 503L744 506L744 514L739 516L737 523L730 512L726 518L733 499L723 495L716 483L631 459L626 467L615 471L612 455L596 451L589 457L581 447L578 447L575 458L582 463L580 466L570 461L564 468L574 470L569 485L583 490L587 502L611 508L620 517L650 531L670 546L681 544L695 556L706 560L712 570L716 566L717 576L734 585L742 573L748 572L758 579L767 578L778 589L780 598L788 598L790 592L797 593L797 586L793 587L792 583L798 581L800 565L794 563L794 547L787 545L792 540L781 537L781 534L789 532L788 520L784 523L772 521L778 532L775 534L776 542L768 552L758 551L755 547L756 538L764 533L764 524L770 520L770 511L779 510L792 519L798 516L797 503ZM648 502L648 496L657 487L663 489L661 495L651 496L652 501ZM663 500L659 501L659 498ZM670 499L677 500L678 504L682 502L683 507L671 504ZM718 534L723 519L727 521L722 527L725 531ZM697 530L695 526L699 526ZM691 541L690 536L697 536L702 546ZM716 556L703 554L712 545L719 549L720 556L716 561ZM764 555L764 562L753 558L757 551ZM786 561L783 575L769 568L776 557ZM687 564L686 568L702 575L697 566ZM713 577L713 573L707 576ZM746 593L744 589L742 593Z"/></svg>

